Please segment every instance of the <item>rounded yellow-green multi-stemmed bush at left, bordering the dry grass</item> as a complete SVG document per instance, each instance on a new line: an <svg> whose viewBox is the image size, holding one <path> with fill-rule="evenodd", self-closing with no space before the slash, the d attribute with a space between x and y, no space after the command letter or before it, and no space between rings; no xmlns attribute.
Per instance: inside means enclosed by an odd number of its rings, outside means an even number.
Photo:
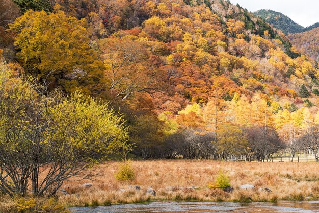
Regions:
<svg viewBox="0 0 319 213"><path fill-rule="evenodd" d="M129 150L124 119L108 105L79 92L47 107L43 113L47 128L43 132L39 163L50 168L43 174L40 166L33 171L35 196L55 194L69 178L90 178L88 169L110 154ZM43 152L43 153L42 153ZM41 174L42 175L42 174Z"/></svg>

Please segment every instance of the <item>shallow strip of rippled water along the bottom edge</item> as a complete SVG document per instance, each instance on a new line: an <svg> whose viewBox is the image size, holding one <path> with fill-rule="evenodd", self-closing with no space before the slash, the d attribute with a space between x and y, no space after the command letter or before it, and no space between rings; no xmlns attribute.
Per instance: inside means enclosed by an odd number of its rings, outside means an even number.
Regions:
<svg viewBox="0 0 319 213"><path fill-rule="evenodd" d="M277 203L212 203L212 202L155 202L148 204L126 204L71 208L73 213L318 213L319 201L280 201Z"/></svg>

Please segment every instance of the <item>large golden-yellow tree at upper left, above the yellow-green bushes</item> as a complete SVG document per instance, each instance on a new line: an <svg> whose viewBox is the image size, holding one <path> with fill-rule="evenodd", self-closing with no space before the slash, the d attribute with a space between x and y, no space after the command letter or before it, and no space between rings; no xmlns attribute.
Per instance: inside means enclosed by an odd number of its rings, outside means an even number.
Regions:
<svg viewBox="0 0 319 213"><path fill-rule="evenodd" d="M16 33L17 56L26 72L66 91L100 90L92 85L103 78L103 64L90 48L86 20L58 9L52 13L29 10L10 25Z"/></svg>

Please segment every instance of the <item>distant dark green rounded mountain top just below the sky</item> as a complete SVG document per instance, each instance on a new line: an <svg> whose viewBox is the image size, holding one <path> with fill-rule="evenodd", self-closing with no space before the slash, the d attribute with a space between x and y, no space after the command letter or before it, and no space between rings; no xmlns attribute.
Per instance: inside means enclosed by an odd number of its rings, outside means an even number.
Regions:
<svg viewBox="0 0 319 213"><path fill-rule="evenodd" d="M298 23L282 13L273 10L258 10L254 12L254 14L273 25L276 29L281 30L286 35L304 31L303 26L298 25Z"/></svg>

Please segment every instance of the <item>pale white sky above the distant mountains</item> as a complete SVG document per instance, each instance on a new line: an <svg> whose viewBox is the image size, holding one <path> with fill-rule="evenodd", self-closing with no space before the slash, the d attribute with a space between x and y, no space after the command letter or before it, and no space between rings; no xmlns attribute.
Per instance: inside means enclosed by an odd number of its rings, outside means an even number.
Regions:
<svg viewBox="0 0 319 213"><path fill-rule="evenodd" d="M251 12L270 9L281 12L304 27L319 22L318 0L230 0Z"/></svg>

